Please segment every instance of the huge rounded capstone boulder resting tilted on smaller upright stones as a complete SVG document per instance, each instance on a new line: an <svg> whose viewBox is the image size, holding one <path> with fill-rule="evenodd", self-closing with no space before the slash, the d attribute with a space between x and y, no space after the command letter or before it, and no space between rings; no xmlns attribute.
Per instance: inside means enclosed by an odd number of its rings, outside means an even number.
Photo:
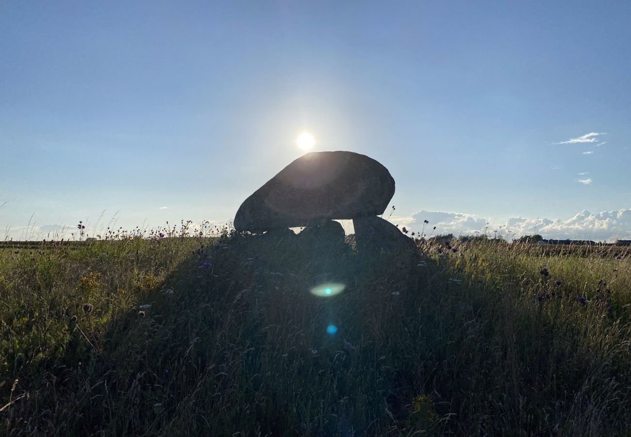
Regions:
<svg viewBox="0 0 631 437"><path fill-rule="evenodd" d="M384 213L394 195L386 167L353 152L312 152L294 160L247 198L237 230L263 232Z"/></svg>

